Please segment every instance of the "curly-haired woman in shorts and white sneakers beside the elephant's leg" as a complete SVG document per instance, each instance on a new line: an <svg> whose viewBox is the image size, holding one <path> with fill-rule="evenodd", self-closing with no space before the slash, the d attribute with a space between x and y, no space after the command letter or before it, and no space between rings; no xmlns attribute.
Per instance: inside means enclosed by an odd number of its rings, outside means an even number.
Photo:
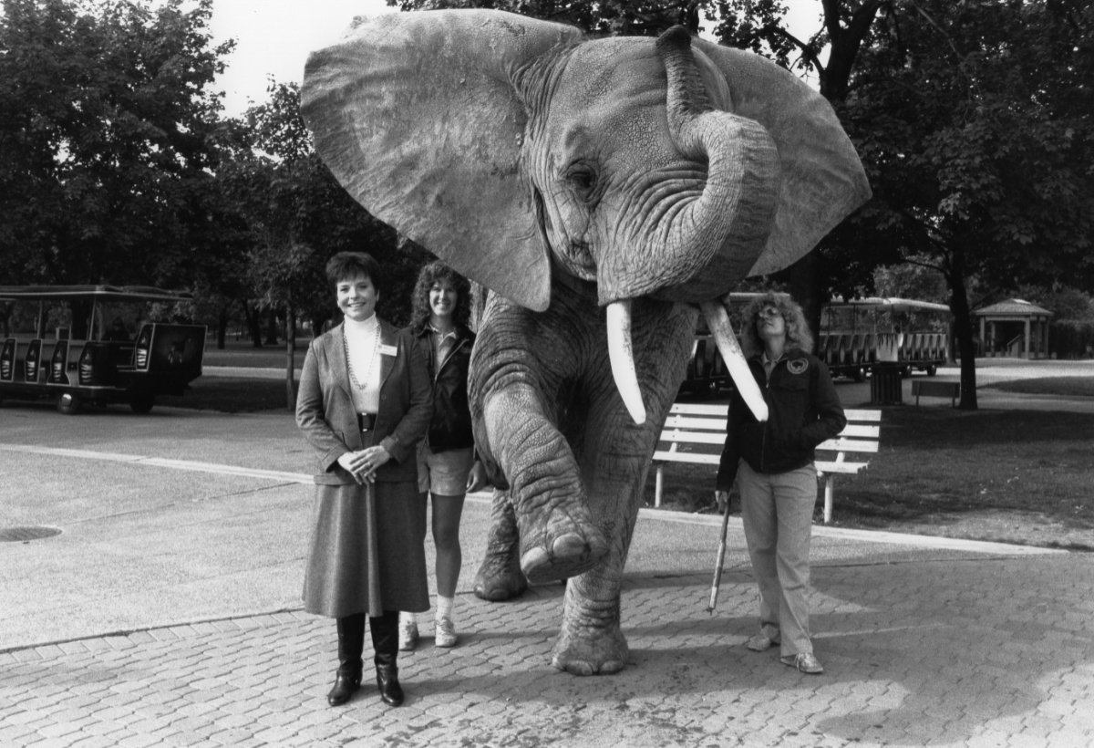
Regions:
<svg viewBox="0 0 1094 748"><path fill-rule="evenodd" d="M408 332L429 363L433 382L433 417L418 445L418 490L422 500L433 497L433 544L437 546L437 646L456 644L454 607L463 552L459 518L464 496L485 483L482 464L475 459L475 437L467 404L467 369L475 334L470 317L470 284L441 262L426 265L418 275L412 299L414 319ZM399 648L414 649L418 621L404 612Z"/></svg>

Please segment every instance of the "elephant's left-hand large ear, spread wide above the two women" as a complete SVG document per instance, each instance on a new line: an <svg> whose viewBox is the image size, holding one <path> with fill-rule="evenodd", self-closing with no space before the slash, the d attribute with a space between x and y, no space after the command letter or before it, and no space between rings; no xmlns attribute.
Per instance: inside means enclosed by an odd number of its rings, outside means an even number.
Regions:
<svg viewBox="0 0 1094 748"><path fill-rule="evenodd" d="M309 58L304 122L369 212L473 280L543 310L550 260L517 166L526 114L512 76L579 36L497 11L358 19Z"/></svg>

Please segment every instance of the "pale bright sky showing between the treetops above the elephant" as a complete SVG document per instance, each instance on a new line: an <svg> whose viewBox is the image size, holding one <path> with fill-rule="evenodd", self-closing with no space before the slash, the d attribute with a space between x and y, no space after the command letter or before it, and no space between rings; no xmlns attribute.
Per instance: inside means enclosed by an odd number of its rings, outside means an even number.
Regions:
<svg viewBox="0 0 1094 748"><path fill-rule="evenodd" d="M819 26L819 3L795 1L791 31L807 36ZM268 76L299 83L312 49L337 39L356 15L391 13L384 0L213 0L210 32L217 43L236 41L228 70L217 80L225 114L266 101Z"/></svg>

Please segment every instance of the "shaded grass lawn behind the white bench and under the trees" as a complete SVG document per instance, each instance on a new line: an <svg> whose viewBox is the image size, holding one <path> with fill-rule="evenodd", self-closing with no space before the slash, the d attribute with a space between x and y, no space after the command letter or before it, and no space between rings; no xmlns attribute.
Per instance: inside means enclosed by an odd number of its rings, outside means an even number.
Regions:
<svg viewBox="0 0 1094 748"><path fill-rule="evenodd" d="M993 387L1094 398L1090 377ZM201 377L191 388L162 404L290 413L282 379ZM836 479L834 526L1094 551L1094 415L909 405L882 411L881 451L862 473ZM663 508L713 513L714 472L665 465ZM653 474L647 506L653 505Z"/></svg>

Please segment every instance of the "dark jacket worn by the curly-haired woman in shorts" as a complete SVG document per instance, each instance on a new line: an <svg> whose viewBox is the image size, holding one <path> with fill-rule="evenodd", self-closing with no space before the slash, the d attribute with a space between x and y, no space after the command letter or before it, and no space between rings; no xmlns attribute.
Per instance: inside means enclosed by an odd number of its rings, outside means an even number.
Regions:
<svg viewBox="0 0 1094 748"><path fill-rule="evenodd" d="M437 360L437 349L431 340L432 330L427 324L411 334L418 340L429 363L433 382L433 419L426 434L426 444L434 452L465 449L475 446L472 433L472 412L467 403L467 370L472 360L475 333L456 327L456 342L443 361Z"/></svg>

